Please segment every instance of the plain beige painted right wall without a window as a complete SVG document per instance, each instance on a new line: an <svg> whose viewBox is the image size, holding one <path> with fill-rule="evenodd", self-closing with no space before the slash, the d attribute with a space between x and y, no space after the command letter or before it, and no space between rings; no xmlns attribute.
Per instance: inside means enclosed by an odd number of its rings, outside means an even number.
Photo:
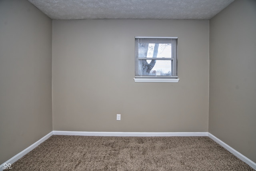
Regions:
<svg viewBox="0 0 256 171"><path fill-rule="evenodd" d="M210 20L209 132L256 162L256 1Z"/></svg>

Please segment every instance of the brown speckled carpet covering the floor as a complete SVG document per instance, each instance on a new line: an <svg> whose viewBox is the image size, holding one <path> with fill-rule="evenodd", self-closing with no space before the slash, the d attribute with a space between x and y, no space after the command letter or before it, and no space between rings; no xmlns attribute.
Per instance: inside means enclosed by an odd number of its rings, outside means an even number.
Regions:
<svg viewBox="0 0 256 171"><path fill-rule="evenodd" d="M12 171L72 170L255 171L209 137L52 135L12 164Z"/></svg>

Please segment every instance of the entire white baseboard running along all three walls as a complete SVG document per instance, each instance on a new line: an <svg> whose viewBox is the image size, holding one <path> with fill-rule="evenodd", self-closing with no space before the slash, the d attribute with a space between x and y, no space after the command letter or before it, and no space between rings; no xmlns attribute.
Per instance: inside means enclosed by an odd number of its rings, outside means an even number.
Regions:
<svg viewBox="0 0 256 171"><path fill-rule="evenodd" d="M30 145L28 148L24 149L2 165L0 165L0 171L4 169L4 164L14 163L26 153L37 147L40 143L44 142L52 135L82 135L82 136L116 136L116 137L170 137L170 136L208 136L213 139L216 143L220 144L222 147L230 151L240 160L247 163L253 169L256 169L256 163L248 159L214 135L208 132L87 132L87 131L52 131L36 141L34 144Z"/></svg>

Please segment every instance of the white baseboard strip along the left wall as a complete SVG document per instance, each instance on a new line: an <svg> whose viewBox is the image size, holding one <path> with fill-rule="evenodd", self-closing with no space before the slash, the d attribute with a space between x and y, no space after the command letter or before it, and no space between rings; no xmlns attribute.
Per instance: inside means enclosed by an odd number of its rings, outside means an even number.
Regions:
<svg viewBox="0 0 256 171"><path fill-rule="evenodd" d="M28 152L30 152L32 149L36 148L40 143L44 142L46 139L48 139L50 136L53 135L53 132L51 131L50 133L48 133L47 135L45 135L44 137L42 137L41 139L39 139L38 141L36 141L34 144L30 145L28 148L24 149L23 151L21 151L20 153L16 154L14 157L12 157L11 159L7 160L6 162L4 162L2 165L0 165L0 171L2 171L3 169L5 169L4 164L9 164L9 163L14 163L15 161L17 161L18 159L20 159L21 157L23 157L24 155L26 155Z"/></svg>

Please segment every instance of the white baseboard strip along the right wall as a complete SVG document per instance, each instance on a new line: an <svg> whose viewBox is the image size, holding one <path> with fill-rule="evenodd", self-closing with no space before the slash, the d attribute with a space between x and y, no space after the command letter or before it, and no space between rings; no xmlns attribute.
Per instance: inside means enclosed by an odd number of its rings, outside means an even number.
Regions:
<svg viewBox="0 0 256 171"><path fill-rule="evenodd" d="M256 170L256 163L254 163L252 160L248 159L246 156L242 155L232 147L230 147L228 144L224 143L211 133L208 133L208 137L210 137L212 140L214 140L216 143L220 144L222 147L227 149L230 153L234 154L238 159L242 160L244 163L248 164L250 167Z"/></svg>

